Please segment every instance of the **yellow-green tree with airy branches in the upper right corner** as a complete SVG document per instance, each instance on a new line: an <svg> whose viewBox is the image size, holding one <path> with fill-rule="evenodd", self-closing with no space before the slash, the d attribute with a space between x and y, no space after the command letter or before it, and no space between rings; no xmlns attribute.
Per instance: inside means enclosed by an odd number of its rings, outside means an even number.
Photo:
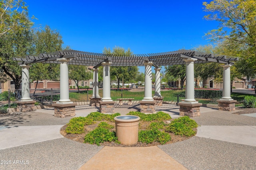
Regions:
<svg viewBox="0 0 256 170"><path fill-rule="evenodd" d="M238 52L237 57L246 59L246 63L255 72L256 1L213 0L210 3L204 2L203 5L204 11L210 12L204 18L220 23L220 27L209 31L206 37L213 41L226 41L227 46Z"/></svg>

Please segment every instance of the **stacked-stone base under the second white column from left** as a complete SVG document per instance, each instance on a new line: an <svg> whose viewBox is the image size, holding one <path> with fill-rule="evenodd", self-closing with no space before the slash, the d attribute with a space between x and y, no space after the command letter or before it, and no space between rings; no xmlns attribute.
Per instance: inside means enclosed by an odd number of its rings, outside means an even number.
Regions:
<svg viewBox="0 0 256 170"><path fill-rule="evenodd" d="M76 113L76 103L71 103L71 104L52 104L54 107L54 117L70 117L70 116L75 116Z"/></svg>

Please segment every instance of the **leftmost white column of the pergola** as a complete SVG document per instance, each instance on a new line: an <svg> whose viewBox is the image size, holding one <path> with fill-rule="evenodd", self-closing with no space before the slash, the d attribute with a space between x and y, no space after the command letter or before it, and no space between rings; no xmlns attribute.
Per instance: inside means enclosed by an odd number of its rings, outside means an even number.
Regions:
<svg viewBox="0 0 256 170"><path fill-rule="evenodd" d="M30 98L30 88L29 88L29 68L30 65L22 64L22 86L21 86L21 101L32 101ZM39 73L40 74L40 73Z"/></svg>

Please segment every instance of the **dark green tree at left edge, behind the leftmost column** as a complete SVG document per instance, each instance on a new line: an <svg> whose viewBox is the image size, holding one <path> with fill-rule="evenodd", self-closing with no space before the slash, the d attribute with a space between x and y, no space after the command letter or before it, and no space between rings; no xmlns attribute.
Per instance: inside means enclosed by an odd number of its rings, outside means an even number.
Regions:
<svg viewBox="0 0 256 170"><path fill-rule="evenodd" d="M33 52L30 28L30 23L20 23L11 33L5 33L0 38L0 72L4 72L14 81L15 89L20 88L21 67L12 60L12 57L25 56Z"/></svg>

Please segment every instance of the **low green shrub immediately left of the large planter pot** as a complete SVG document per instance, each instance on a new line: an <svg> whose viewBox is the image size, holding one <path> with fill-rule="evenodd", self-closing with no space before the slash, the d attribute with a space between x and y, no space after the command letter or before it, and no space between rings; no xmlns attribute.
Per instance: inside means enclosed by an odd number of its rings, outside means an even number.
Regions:
<svg viewBox="0 0 256 170"><path fill-rule="evenodd" d="M116 133L114 131L110 131L109 129L105 129L103 127L97 127L93 131L90 131L87 135L84 137L84 143L90 143L90 144L96 144L100 145L100 143L103 143L105 141L112 142L117 141Z"/></svg>

